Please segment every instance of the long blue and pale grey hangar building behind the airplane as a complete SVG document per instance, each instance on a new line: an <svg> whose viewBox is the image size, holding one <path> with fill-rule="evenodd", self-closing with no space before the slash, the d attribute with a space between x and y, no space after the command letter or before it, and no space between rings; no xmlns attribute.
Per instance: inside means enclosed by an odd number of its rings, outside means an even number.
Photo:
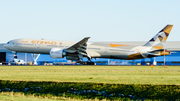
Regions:
<svg viewBox="0 0 180 101"><path fill-rule="evenodd" d="M106 42L104 42L106 43ZM146 42L113 42L114 44L127 44L127 45L144 45ZM0 63L8 65L14 60L14 53L10 50L7 50L0 44ZM136 60L121 60L121 59L92 59L96 65L164 65L164 60L166 65L180 65L180 41L167 41L164 46L165 49L171 51L171 55L166 55L153 58L145 59L136 59ZM68 62L66 58L54 59L47 54L31 54L31 53L17 53L18 59L24 60L27 64L34 63L37 65L44 64L53 64L53 65L62 65L69 64L73 65L74 63ZM84 58L84 61L87 61Z"/></svg>

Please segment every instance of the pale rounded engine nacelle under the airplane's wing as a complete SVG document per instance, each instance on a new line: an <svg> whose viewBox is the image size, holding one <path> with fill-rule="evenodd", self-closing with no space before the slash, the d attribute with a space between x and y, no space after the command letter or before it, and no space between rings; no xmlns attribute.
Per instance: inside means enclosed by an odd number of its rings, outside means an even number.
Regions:
<svg viewBox="0 0 180 101"><path fill-rule="evenodd" d="M64 58L66 56L66 52L60 48L52 48L49 54L52 58Z"/></svg>

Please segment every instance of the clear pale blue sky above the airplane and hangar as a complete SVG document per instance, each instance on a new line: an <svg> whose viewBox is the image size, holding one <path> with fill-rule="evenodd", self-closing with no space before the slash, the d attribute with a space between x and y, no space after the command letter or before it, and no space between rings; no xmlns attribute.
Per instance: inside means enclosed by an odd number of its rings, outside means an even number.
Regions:
<svg viewBox="0 0 180 101"><path fill-rule="evenodd" d="M179 0L0 0L0 43L31 38L149 41L167 24L180 41Z"/></svg>

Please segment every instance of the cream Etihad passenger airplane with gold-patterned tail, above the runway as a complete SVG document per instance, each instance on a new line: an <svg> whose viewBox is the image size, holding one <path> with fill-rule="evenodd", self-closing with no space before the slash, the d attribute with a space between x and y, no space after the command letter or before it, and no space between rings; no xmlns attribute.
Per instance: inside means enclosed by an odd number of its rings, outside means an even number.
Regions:
<svg viewBox="0 0 180 101"><path fill-rule="evenodd" d="M143 59L163 55L171 52L163 49L173 25L166 25L145 45L132 46L126 44L88 42L90 37L85 37L79 42L36 40L36 39L14 39L7 42L4 47L15 52L49 54L52 58L64 58L75 60L83 65L94 65L92 58L109 59ZM88 61L84 62L83 58Z"/></svg>

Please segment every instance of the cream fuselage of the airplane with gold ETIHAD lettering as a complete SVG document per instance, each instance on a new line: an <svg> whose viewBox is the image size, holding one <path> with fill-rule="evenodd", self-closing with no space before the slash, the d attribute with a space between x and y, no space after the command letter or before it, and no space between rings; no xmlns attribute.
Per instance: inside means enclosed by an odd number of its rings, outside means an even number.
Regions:
<svg viewBox="0 0 180 101"><path fill-rule="evenodd" d="M15 52L49 54L52 48L66 49L73 44L75 42L16 39L9 41L4 47ZM115 47L112 44L87 43L86 51L92 58L139 59L146 58L138 53L140 51L141 53L146 53L147 49L149 50L148 47L143 46L124 45ZM137 55L138 57L136 58Z"/></svg>

